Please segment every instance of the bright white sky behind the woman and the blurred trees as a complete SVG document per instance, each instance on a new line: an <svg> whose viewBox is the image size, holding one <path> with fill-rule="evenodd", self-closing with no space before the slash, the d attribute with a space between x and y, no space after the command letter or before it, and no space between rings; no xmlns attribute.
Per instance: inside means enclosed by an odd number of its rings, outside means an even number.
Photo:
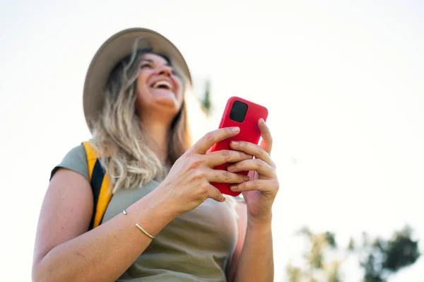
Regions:
<svg viewBox="0 0 424 282"><path fill-rule="evenodd" d="M195 136L218 126L231 95L269 108L281 182L276 281L300 257L302 225L344 244L409 223L424 240L424 2L87 2L1 2L4 281L30 280L49 172L89 137L81 95L90 59L134 26L175 42L198 92L211 78L215 112L208 123L192 112ZM420 259L390 282L418 281L423 267ZM360 275L355 263L345 274Z"/></svg>

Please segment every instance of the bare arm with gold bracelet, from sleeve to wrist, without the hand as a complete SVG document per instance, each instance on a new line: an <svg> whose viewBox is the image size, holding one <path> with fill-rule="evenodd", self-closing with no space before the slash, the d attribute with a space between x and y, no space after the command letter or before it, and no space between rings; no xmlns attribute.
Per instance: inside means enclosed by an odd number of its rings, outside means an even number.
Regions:
<svg viewBox="0 0 424 282"><path fill-rule="evenodd" d="M61 169L45 195L35 240L33 281L116 281L174 214L153 192L86 232L93 195L85 177ZM160 199L160 198L159 198ZM113 266L113 267L111 267Z"/></svg>

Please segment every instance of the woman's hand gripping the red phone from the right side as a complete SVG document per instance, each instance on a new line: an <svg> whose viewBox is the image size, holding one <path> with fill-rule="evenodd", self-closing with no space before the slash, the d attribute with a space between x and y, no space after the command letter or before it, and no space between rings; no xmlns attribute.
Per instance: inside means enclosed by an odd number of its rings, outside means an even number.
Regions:
<svg viewBox="0 0 424 282"><path fill-rule="evenodd" d="M259 119L262 141L260 145L249 142L232 142L231 148L254 155L254 159L242 160L228 166L230 172L249 171L249 181L234 184L231 190L242 192L250 220L264 222L271 221L272 204L276 198L279 184L276 174L276 165L271 160L272 137L264 119Z"/></svg>

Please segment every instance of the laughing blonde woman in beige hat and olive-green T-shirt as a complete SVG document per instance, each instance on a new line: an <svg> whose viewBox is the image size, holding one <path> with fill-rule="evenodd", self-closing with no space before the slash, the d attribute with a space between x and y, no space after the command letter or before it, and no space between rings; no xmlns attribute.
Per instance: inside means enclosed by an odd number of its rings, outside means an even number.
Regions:
<svg viewBox="0 0 424 282"><path fill-rule="evenodd" d="M238 128L212 131L190 146L190 86L182 55L152 30L123 30L100 47L83 106L113 197L102 224L88 230L86 151L69 151L42 204L34 281L273 281L278 180L269 129L258 121L261 146L239 142L206 154ZM226 162L234 167L212 169ZM245 202L225 201L209 182L233 183Z"/></svg>

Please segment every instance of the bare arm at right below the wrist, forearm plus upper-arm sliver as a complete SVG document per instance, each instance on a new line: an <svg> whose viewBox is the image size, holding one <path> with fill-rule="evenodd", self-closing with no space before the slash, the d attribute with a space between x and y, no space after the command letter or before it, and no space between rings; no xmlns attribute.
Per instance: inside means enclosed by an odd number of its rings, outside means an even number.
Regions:
<svg viewBox="0 0 424 282"><path fill-rule="evenodd" d="M247 220L246 204L237 204L238 237L228 281L273 281L271 220Z"/></svg>

